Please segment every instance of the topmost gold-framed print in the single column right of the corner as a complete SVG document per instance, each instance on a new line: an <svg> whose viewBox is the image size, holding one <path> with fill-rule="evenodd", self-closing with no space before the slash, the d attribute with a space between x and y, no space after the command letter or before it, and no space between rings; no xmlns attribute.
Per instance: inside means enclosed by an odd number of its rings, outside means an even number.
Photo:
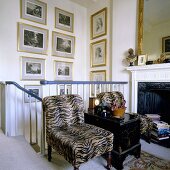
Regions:
<svg viewBox="0 0 170 170"><path fill-rule="evenodd" d="M91 39L107 34L107 8L91 16Z"/></svg>

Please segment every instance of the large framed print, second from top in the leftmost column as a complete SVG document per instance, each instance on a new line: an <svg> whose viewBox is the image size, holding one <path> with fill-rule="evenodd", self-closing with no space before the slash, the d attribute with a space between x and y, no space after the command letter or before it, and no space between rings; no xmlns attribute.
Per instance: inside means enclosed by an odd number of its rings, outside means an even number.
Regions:
<svg viewBox="0 0 170 170"><path fill-rule="evenodd" d="M18 23L18 51L47 54L48 30Z"/></svg>

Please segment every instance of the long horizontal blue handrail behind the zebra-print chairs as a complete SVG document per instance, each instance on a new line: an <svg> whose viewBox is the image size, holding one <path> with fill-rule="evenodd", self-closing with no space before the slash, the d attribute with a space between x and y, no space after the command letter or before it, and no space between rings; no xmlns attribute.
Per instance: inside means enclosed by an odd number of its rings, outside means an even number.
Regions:
<svg viewBox="0 0 170 170"><path fill-rule="evenodd" d="M48 81L41 80L41 85L50 84L128 84L126 81Z"/></svg>

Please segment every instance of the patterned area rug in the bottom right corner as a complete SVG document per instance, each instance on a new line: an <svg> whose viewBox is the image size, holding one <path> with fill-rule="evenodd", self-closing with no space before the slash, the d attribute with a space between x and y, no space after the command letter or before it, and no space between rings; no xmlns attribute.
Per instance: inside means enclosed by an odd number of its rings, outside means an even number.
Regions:
<svg viewBox="0 0 170 170"><path fill-rule="evenodd" d="M170 170L170 161L142 151L139 159L127 160L124 167L129 167L130 170Z"/></svg>

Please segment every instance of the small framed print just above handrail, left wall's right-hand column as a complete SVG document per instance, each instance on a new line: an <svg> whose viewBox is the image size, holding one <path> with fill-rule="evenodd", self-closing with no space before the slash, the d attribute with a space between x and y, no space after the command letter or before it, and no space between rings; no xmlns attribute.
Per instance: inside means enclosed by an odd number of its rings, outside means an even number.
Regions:
<svg viewBox="0 0 170 170"><path fill-rule="evenodd" d="M55 61L55 79L56 80L72 80L72 62Z"/></svg>

